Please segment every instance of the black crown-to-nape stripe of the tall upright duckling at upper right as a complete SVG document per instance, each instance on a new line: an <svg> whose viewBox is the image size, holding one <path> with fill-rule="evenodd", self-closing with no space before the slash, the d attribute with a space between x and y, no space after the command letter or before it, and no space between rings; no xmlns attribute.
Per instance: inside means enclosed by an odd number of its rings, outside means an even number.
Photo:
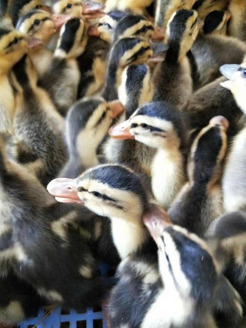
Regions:
<svg viewBox="0 0 246 328"><path fill-rule="evenodd" d="M173 20L169 24L169 38L168 38L168 44L169 44L169 50L167 51L168 54L168 60L173 59L174 61L177 60L177 56L179 53L180 48L180 42L183 37L184 31L186 30L186 22L189 19L189 17L194 15L193 10L186 10L181 9L177 10ZM169 54L172 58L170 58Z"/></svg>

